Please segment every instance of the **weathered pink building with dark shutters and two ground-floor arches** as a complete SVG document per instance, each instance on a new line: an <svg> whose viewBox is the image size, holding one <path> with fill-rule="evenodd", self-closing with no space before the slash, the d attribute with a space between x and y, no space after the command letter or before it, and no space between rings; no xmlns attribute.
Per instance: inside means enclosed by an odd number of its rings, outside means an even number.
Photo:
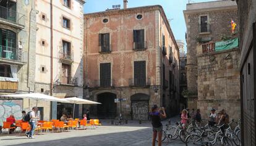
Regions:
<svg viewBox="0 0 256 146"><path fill-rule="evenodd" d="M85 14L85 96L98 118L148 120L151 105L179 112L179 50L161 6ZM114 99L125 99L115 103Z"/></svg>

